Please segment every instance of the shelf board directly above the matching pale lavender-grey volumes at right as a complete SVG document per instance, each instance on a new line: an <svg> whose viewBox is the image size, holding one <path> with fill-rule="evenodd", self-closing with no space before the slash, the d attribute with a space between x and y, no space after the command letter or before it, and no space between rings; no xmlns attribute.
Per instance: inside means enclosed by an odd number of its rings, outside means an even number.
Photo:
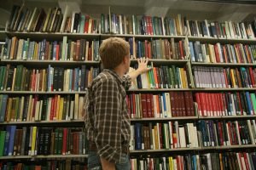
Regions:
<svg viewBox="0 0 256 170"><path fill-rule="evenodd" d="M201 66L256 66L256 63L201 63L201 62L191 62L191 65L201 65Z"/></svg>

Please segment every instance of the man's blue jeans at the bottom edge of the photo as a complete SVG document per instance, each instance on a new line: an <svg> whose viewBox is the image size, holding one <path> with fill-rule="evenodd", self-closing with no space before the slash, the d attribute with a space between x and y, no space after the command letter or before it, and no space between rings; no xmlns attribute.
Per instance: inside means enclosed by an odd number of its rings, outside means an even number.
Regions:
<svg viewBox="0 0 256 170"><path fill-rule="evenodd" d="M121 162L115 164L116 170L131 170L130 158L127 154L122 154ZM102 170L101 158L96 151L89 151L88 170Z"/></svg>

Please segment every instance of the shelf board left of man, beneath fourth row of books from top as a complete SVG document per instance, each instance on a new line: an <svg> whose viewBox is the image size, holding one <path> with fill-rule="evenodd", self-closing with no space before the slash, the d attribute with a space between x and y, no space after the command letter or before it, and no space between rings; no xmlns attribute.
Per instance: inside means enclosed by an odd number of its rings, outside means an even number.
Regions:
<svg viewBox="0 0 256 170"><path fill-rule="evenodd" d="M61 120L61 121L15 121L15 122L0 122L0 125L26 125L26 124L55 124L55 123L84 123L84 120Z"/></svg>

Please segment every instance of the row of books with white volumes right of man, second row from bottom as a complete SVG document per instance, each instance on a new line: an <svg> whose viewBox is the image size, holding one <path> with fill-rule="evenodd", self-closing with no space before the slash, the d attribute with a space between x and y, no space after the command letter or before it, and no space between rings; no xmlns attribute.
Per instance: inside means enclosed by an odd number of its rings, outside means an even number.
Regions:
<svg viewBox="0 0 256 170"><path fill-rule="evenodd" d="M255 120L194 123L148 122L131 125L131 150L160 150L255 144Z"/></svg>

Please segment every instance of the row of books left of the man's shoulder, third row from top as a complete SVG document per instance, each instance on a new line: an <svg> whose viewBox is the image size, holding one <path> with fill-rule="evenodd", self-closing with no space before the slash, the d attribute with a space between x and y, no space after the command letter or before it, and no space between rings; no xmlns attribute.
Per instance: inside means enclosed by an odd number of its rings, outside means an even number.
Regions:
<svg viewBox="0 0 256 170"><path fill-rule="evenodd" d="M99 74L98 68L30 69L23 65L0 66L0 89L6 91L84 91Z"/></svg>

